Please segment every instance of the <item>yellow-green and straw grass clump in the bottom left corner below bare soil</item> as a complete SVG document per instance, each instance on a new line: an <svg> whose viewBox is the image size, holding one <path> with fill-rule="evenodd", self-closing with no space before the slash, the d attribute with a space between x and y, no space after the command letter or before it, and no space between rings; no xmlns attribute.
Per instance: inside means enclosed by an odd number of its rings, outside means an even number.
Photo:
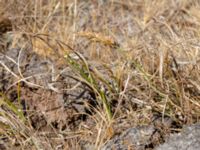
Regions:
<svg viewBox="0 0 200 150"><path fill-rule="evenodd" d="M0 93L0 129L0 138L15 139L9 148L14 148L15 144L23 146L24 139L29 138L30 128L23 110L10 102L3 93Z"/></svg>

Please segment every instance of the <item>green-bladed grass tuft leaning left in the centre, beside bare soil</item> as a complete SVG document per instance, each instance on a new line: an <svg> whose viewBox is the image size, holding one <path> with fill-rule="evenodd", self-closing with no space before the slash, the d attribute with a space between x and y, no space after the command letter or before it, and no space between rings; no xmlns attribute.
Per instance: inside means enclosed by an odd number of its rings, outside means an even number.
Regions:
<svg viewBox="0 0 200 150"><path fill-rule="evenodd" d="M75 55L78 57L80 61L75 60L70 55L65 55L67 63L70 65L72 70L74 70L81 78L80 81L84 82L87 86L89 86L92 91L96 94L97 99L101 100L103 103L104 110L107 114L108 121L111 121L113 113L111 111L111 104L108 100L105 87L100 86L100 82L106 86L106 89L109 92L112 92L113 89L109 85L108 81L106 81L98 72L97 70L92 69L86 59L75 52Z"/></svg>

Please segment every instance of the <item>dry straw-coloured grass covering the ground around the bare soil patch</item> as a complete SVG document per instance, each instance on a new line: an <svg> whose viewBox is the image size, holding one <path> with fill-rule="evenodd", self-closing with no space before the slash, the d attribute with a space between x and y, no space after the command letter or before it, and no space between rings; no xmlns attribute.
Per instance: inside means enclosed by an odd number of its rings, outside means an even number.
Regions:
<svg viewBox="0 0 200 150"><path fill-rule="evenodd" d="M57 138L42 136L28 119L19 119L13 107L1 109L1 135L9 137L12 144L32 149L54 149L56 144L81 149L80 139L87 139L99 148L116 128L120 132L149 124L155 113L171 117L177 126L199 121L198 1L0 2L2 16L13 23L13 47L31 44L38 55L55 60L58 66L70 65L66 56L79 54L82 61L75 59L71 67L75 71L78 67L78 80L99 99L96 113L89 116L94 122L92 128L83 123L73 134L55 131ZM116 106L112 106L113 100Z"/></svg>

